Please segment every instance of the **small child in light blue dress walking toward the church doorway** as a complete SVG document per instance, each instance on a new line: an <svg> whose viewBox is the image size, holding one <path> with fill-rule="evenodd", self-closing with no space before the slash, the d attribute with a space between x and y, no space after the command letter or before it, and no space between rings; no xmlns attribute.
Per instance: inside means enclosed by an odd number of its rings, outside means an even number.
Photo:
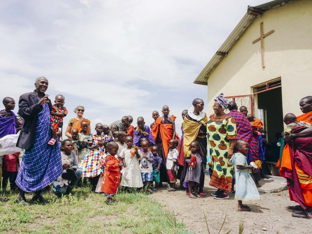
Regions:
<svg viewBox="0 0 312 234"><path fill-rule="evenodd" d="M235 149L238 153L233 154L232 158L228 162L229 165L234 166L236 192L235 199L238 200L239 211L251 211L251 209L243 205L243 201L259 200L260 195L253 181L249 169L253 169L251 165L248 166L246 160L246 154L248 153L248 143L246 140L236 140Z"/></svg>

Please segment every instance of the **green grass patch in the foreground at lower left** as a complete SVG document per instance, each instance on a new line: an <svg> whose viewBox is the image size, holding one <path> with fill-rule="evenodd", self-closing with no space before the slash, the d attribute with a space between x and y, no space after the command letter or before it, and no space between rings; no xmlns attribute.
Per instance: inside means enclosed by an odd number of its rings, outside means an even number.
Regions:
<svg viewBox="0 0 312 234"><path fill-rule="evenodd" d="M17 194L0 203L0 233L189 233L147 193L118 192L113 204L90 187L75 188L74 194L58 199L45 192L46 205L15 204ZM32 195L27 195L31 199Z"/></svg>

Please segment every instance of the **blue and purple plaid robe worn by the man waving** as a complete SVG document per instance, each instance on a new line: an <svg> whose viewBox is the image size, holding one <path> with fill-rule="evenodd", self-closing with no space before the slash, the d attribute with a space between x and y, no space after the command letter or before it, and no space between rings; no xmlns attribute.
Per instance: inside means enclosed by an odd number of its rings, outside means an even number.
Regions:
<svg viewBox="0 0 312 234"><path fill-rule="evenodd" d="M63 172L57 136L56 143L48 145L51 139L50 121L49 106L45 103L37 115L34 144L25 150L17 174L16 184L26 192L43 189Z"/></svg>

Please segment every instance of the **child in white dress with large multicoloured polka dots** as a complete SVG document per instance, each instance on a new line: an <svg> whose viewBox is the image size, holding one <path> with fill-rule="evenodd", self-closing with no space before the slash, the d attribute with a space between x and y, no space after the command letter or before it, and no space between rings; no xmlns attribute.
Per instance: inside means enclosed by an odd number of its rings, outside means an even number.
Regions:
<svg viewBox="0 0 312 234"><path fill-rule="evenodd" d="M95 191L101 172L103 173L103 169L100 168L99 165L99 160L105 158L105 147L104 141L102 140L103 125L97 123L95 125L95 131L95 135L86 139L90 151L85 155L83 162L80 164L82 177L89 178L93 192ZM92 167L92 170L89 169L90 167Z"/></svg>

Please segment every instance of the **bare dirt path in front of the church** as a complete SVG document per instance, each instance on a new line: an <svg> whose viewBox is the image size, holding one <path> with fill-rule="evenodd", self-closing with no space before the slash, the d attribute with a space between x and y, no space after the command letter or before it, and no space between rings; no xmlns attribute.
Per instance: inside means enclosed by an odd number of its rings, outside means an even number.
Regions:
<svg viewBox="0 0 312 234"><path fill-rule="evenodd" d="M168 192L165 188L159 189L151 196L165 205L165 208L174 210L177 219L187 225L192 233L208 233L204 213L206 214L210 233L217 233L223 222L222 213L227 211L227 218L220 233L232 229L231 233L238 233L239 223L243 221L243 233L311 233L312 220L293 218L292 210L286 209L289 205L296 205L289 200L288 190L278 193L260 194L261 200L248 202L251 212L237 211L237 201L234 195L230 199L216 200L211 195L217 189L209 186L209 176L206 177L204 193L206 198L191 199L186 196L185 190ZM263 180L265 181L265 180ZM261 181L261 182L263 182ZM179 183L177 183L177 188ZM261 229L266 229L266 231Z"/></svg>

